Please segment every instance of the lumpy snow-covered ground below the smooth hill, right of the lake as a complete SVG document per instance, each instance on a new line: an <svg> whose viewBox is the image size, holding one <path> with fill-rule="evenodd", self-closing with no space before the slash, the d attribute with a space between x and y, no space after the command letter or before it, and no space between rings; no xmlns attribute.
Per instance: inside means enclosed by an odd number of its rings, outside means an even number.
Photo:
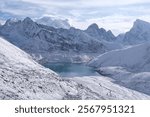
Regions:
<svg viewBox="0 0 150 117"><path fill-rule="evenodd" d="M123 67L101 67L97 71L113 83L150 95L150 72L133 73Z"/></svg>

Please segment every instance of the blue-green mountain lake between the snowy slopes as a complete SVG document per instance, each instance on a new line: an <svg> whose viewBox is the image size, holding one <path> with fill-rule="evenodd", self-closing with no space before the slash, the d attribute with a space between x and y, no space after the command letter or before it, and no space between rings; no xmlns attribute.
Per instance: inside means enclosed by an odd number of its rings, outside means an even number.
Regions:
<svg viewBox="0 0 150 117"><path fill-rule="evenodd" d="M57 72L62 77L98 75L94 68L81 63L47 63L44 66Z"/></svg>

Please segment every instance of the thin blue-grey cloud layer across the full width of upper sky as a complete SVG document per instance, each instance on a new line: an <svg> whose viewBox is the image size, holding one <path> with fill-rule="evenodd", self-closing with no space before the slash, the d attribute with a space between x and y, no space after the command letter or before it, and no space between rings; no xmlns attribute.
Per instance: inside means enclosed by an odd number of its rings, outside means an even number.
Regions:
<svg viewBox="0 0 150 117"><path fill-rule="evenodd" d="M3 12L18 16L39 17L49 14L86 20L91 17L105 17L116 13L140 14L141 9L137 7L145 2L147 4L149 0L1 0L0 8ZM150 3L148 4L147 9L143 5L142 11L145 10L145 14L150 7ZM132 8L133 6L135 10ZM137 9L139 10L137 11Z"/></svg>

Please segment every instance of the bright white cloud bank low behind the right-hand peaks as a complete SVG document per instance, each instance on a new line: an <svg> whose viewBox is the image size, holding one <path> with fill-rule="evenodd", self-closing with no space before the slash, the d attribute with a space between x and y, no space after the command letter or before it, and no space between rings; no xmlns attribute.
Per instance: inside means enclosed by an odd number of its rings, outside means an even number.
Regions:
<svg viewBox="0 0 150 117"><path fill-rule="evenodd" d="M99 28L105 28L106 30L111 30L115 35L120 33L125 33L131 29L133 22L136 19L141 19L150 22L150 15L143 16L123 16L123 15L113 15L103 18L93 18L86 21L78 21L70 19L70 22L76 28L86 29L90 24L97 23Z"/></svg>

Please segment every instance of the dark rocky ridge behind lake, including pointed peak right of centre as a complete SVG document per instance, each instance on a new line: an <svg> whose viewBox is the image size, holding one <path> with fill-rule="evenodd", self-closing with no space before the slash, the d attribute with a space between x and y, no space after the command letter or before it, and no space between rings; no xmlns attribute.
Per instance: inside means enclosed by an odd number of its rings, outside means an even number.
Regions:
<svg viewBox="0 0 150 117"><path fill-rule="evenodd" d="M111 48L107 48L102 40L110 42L115 38L111 31L99 29L96 24L89 26L86 31L74 27L56 29L37 24L28 17L23 21L8 20L1 26L0 35L27 53L40 55L43 59L59 51L77 54L104 53Z"/></svg>

